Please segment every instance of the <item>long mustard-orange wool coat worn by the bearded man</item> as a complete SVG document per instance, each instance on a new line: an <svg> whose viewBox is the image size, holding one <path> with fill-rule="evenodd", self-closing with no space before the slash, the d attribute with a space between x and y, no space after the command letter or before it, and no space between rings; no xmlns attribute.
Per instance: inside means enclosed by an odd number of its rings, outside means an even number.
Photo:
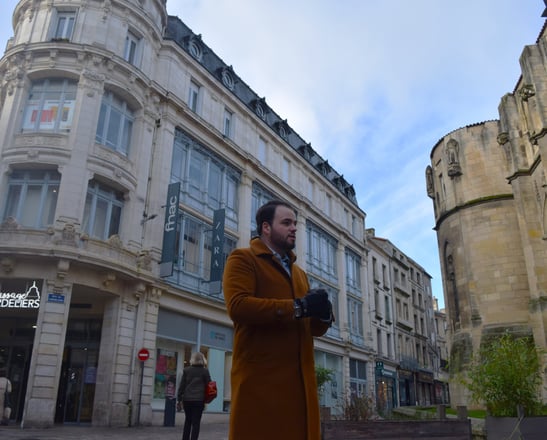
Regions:
<svg viewBox="0 0 547 440"><path fill-rule="evenodd" d="M236 249L224 270L234 322L230 440L320 440L313 336L328 324L294 318L310 286L290 252L289 277L259 239Z"/></svg>

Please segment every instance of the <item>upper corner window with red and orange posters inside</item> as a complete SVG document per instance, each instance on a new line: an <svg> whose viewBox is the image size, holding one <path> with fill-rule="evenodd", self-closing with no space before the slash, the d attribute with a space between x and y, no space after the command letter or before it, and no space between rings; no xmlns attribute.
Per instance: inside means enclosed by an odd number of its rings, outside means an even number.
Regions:
<svg viewBox="0 0 547 440"><path fill-rule="evenodd" d="M23 131L68 131L74 115L76 81L52 78L34 81L23 117Z"/></svg>

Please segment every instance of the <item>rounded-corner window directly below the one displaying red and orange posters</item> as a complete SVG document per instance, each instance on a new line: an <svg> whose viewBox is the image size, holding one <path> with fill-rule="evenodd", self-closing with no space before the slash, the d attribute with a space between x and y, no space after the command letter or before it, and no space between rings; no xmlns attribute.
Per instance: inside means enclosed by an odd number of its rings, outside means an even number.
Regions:
<svg viewBox="0 0 547 440"><path fill-rule="evenodd" d="M30 228L52 225L60 181L57 171L13 171L9 176L3 219L13 217L20 225Z"/></svg>

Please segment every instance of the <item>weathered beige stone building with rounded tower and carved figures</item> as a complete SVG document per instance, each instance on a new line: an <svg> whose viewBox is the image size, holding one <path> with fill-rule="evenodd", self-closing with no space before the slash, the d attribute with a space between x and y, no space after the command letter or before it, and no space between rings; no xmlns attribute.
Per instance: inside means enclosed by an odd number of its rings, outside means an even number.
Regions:
<svg viewBox="0 0 547 440"><path fill-rule="evenodd" d="M440 139L426 169L451 346L451 373L505 330L547 348L547 34L520 57L500 119ZM543 357L547 400L547 354ZM452 403L471 404L457 381Z"/></svg>

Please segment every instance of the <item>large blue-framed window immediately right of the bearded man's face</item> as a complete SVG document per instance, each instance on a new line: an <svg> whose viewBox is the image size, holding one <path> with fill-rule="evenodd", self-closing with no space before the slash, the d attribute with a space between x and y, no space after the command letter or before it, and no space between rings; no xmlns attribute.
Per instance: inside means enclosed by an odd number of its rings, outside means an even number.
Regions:
<svg viewBox="0 0 547 440"><path fill-rule="evenodd" d="M312 223L306 224L308 270L332 282L338 281L336 250L338 242Z"/></svg>

